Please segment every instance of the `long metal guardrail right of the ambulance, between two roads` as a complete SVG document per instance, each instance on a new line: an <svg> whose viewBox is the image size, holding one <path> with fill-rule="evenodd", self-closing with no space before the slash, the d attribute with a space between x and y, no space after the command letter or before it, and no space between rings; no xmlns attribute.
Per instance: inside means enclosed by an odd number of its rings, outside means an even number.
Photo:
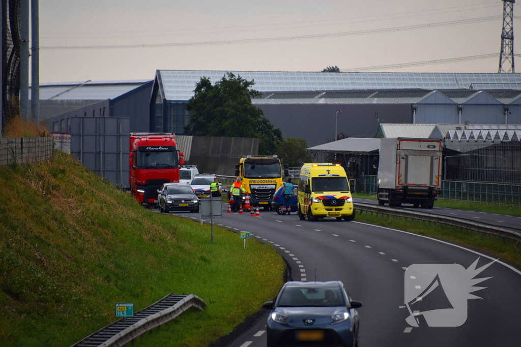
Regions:
<svg viewBox="0 0 521 347"><path fill-rule="evenodd" d="M355 209L361 212L381 213L403 218L411 218L419 221L434 222L445 225L457 226L465 229L474 230L475 232L487 233L495 236L501 236L517 242L521 242L521 230L503 228L487 223L480 223L465 219L443 216L434 213L416 212L405 209L391 208L370 203L355 202Z"/></svg>

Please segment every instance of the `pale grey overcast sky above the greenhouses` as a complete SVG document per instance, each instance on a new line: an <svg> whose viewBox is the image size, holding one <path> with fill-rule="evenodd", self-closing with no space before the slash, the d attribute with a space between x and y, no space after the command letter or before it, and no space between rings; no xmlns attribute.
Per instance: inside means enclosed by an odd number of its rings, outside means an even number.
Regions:
<svg viewBox="0 0 521 347"><path fill-rule="evenodd" d="M502 12L503 2L494 0L40 1L40 81L153 79L157 69L320 71L499 54L500 18L422 24ZM420 28L378 30L411 25ZM353 33L367 30L375 32ZM117 48L141 44L149 46ZM494 57L376 71L498 72L498 65Z"/></svg>

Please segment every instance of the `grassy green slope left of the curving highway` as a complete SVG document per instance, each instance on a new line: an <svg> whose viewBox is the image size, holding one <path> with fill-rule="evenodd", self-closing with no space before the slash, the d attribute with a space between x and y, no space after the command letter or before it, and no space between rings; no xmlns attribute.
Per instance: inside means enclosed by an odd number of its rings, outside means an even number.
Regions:
<svg viewBox="0 0 521 347"><path fill-rule="evenodd" d="M68 346L116 320L115 303L139 310L170 292L207 307L162 328L162 345L208 345L283 283L271 247L244 250L219 227L212 244L208 225L151 213L63 153L0 168L0 186L2 346Z"/></svg>

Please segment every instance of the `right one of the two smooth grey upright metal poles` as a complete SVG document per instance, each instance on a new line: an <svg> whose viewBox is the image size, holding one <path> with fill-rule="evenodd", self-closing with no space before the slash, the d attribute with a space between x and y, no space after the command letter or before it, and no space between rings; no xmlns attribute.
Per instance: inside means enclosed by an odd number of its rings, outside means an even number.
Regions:
<svg viewBox="0 0 521 347"><path fill-rule="evenodd" d="M40 124L40 24L38 0L31 0L31 113Z"/></svg>

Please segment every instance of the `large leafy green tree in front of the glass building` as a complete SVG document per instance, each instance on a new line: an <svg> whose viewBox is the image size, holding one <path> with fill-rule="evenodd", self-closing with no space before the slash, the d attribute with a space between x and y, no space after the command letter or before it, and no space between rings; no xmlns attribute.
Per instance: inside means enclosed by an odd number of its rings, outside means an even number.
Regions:
<svg viewBox="0 0 521 347"><path fill-rule="evenodd" d="M194 96L188 101L192 112L185 132L194 136L256 137L259 155L272 155L282 140L282 133L264 117L251 98L261 93L250 87L240 75L228 72L214 85L206 77L195 85Z"/></svg>

